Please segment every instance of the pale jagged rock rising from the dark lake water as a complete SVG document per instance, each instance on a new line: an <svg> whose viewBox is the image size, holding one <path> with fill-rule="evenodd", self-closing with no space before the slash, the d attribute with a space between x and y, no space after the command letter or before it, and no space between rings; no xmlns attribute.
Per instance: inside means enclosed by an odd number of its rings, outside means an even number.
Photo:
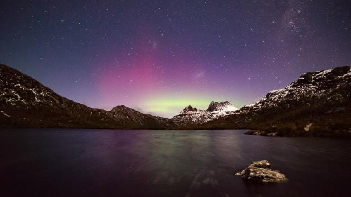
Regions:
<svg viewBox="0 0 351 197"><path fill-rule="evenodd" d="M252 162L249 167L241 172L236 173L236 176L241 176L250 181L263 183L282 183L288 179L278 170L270 169L271 164L267 160Z"/></svg>

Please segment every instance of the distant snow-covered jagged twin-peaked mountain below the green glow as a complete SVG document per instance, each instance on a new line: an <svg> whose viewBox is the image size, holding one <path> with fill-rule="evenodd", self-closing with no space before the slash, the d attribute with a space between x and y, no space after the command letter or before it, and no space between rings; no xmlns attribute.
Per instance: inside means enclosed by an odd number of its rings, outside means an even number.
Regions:
<svg viewBox="0 0 351 197"><path fill-rule="evenodd" d="M174 116L172 121L176 125L203 124L218 117L232 114L236 110L238 110L238 108L234 107L228 101L220 103L212 101L207 110L198 110L188 106L178 115Z"/></svg>

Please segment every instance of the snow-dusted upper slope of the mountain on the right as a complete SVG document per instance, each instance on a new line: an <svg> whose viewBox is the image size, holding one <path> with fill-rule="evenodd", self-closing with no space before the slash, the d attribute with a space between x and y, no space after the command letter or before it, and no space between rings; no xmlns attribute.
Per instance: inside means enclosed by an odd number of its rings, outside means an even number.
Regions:
<svg viewBox="0 0 351 197"><path fill-rule="evenodd" d="M339 94L330 95L333 86L336 88L345 86L351 77L350 66L336 67L328 70L307 72L301 75L298 80L290 83L283 89L273 90L267 93L260 101L245 105L236 113L248 113L261 109L270 109L286 103L308 102L311 99L328 95L329 99L340 97ZM330 87L330 88L328 88ZM345 99L345 98L338 98Z"/></svg>

